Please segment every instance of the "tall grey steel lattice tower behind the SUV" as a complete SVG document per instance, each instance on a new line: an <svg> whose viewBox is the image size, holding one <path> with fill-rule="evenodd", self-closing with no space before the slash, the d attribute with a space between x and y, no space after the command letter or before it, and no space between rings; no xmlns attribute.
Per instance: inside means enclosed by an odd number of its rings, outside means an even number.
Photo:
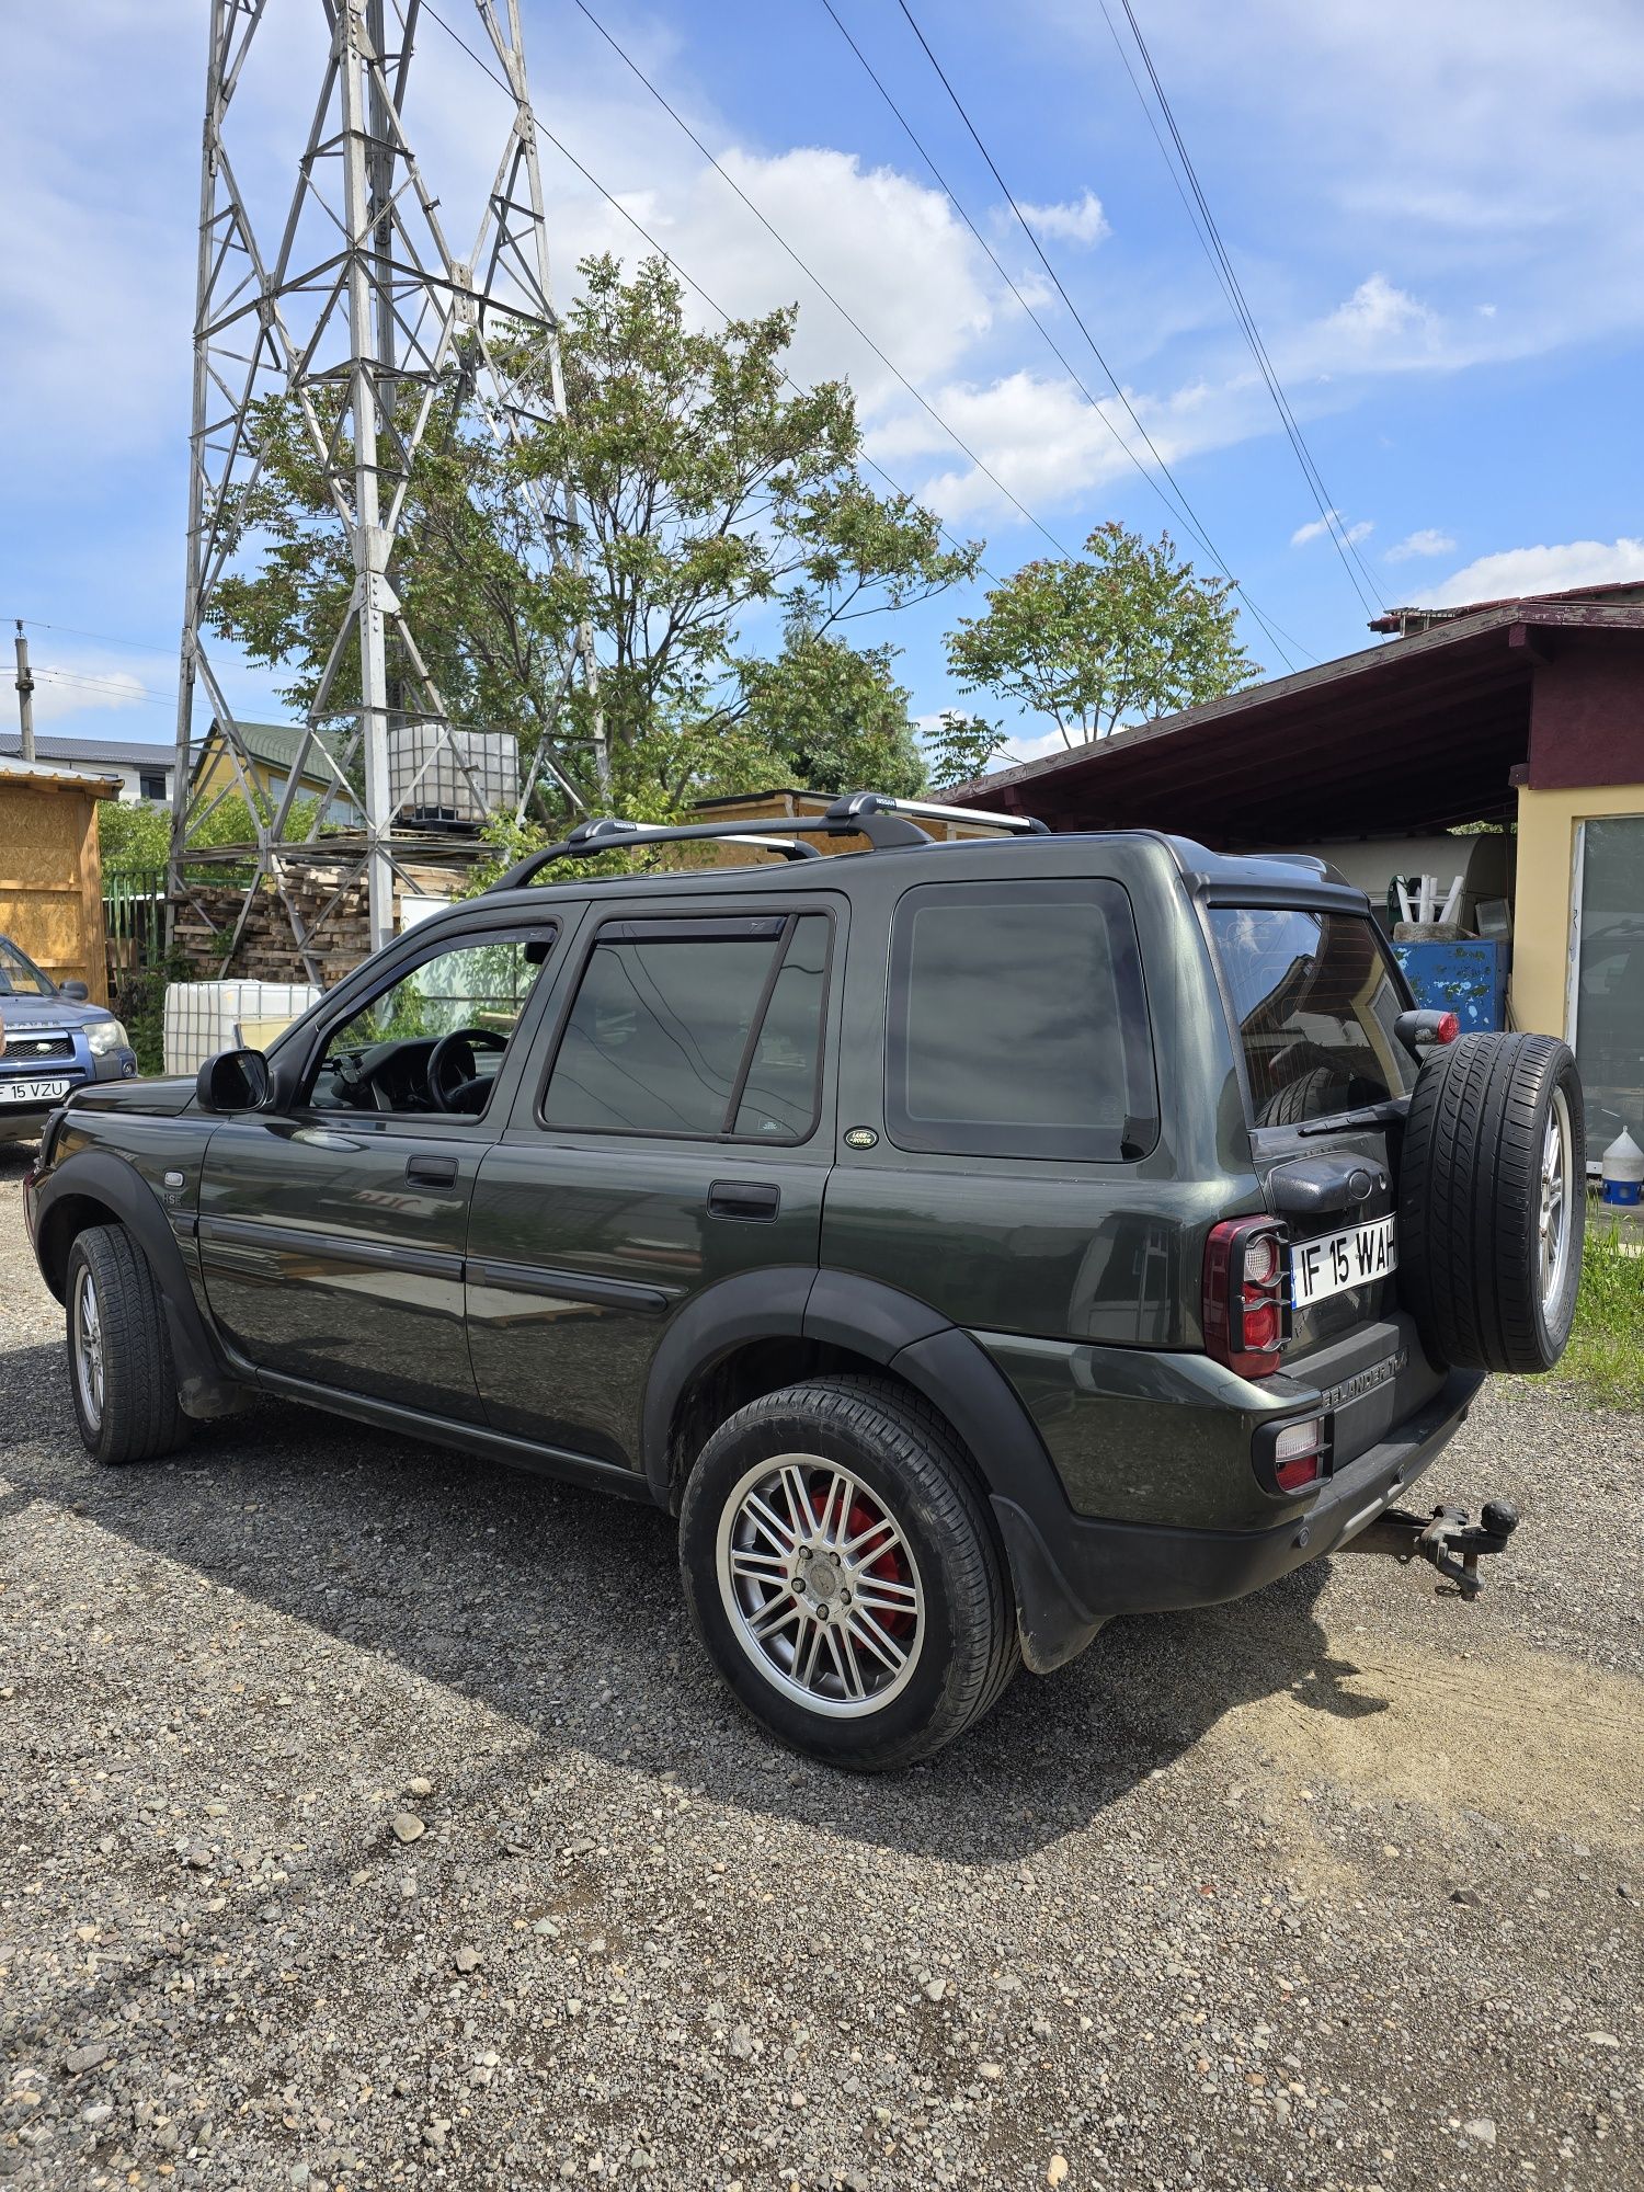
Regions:
<svg viewBox="0 0 1644 2192"><path fill-rule="evenodd" d="M432 728L425 767L447 756L478 796L445 701L390 583L395 539L416 452L454 375L471 416L500 441L520 436L548 408L563 412L566 403L520 0L476 0L484 42L511 88L513 121L467 259L458 259L447 241L443 208L423 180L403 121L419 4L309 0L318 99L294 193L274 228L254 219L239 186L228 127L272 0L210 0L171 890L186 897L193 866L189 835L215 804L189 785L199 688L221 726L256 829L256 872L226 964L263 879L272 879L285 901L296 947L316 978L311 943L331 905L359 883L362 870L373 949L392 934L392 888L395 872L403 872L406 840L397 840L392 829L390 723ZM535 338L539 355L546 349L546 395L537 386L522 388L509 373L502 353L522 333ZM215 592L235 568L235 500L256 487L263 469L256 410L267 397L296 406L355 572L296 765L272 818L259 811L252 796L252 756L213 671L204 631ZM447 410L438 408L441 419ZM568 498L544 493L539 515L546 552L561 552L566 522L574 520ZM359 693L357 699L333 701L351 640L357 642ZM590 686L596 680L587 636L561 664L561 693L576 677ZM598 710L594 719L598 723ZM327 730L333 737L322 737ZM598 728L587 758L603 780ZM533 780L539 769L581 804L574 778L546 734ZM327 789L307 837L285 842L287 813L305 774ZM320 842L320 824L335 818L344 800L357 804L357 789L364 789L364 829ZM305 932L292 899L292 875L320 859L331 868L342 861L344 877L324 914Z"/></svg>

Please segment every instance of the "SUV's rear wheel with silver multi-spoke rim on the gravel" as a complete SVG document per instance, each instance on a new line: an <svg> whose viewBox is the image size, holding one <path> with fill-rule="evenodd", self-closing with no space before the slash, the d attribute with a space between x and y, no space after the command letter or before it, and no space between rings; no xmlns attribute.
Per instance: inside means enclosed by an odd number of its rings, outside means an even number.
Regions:
<svg viewBox="0 0 1644 2192"><path fill-rule="evenodd" d="M798 1502L809 1532L794 1528ZM866 1543L855 1572L833 1559L853 1543ZM826 1765L877 1773L929 1758L993 1710L1021 1659L971 1462L936 1409L886 1379L813 1379L721 1423L686 1482L680 1569L741 1703ZM818 1574L820 1589L794 1587Z"/></svg>

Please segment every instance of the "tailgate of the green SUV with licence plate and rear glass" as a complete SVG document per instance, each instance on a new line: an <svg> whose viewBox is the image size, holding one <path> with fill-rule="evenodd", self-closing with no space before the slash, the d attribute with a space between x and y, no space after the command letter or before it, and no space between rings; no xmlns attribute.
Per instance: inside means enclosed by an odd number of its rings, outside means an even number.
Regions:
<svg viewBox="0 0 1644 2192"><path fill-rule="evenodd" d="M1339 1464L1440 1383L1398 1304L1396 1162L1416 1061L1394 1019L1407 995L1368 914L1212 905L1208 921L1256 1173L1291 1236L1285 1368L1342 1388Z"/></svg>

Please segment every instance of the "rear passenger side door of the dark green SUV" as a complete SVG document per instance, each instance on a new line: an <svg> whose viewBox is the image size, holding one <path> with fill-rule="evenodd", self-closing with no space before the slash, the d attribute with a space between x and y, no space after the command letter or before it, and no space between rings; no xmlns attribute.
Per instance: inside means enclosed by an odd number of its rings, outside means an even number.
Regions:
<svg viewBox="0 0 1644 2192"><path fill-rule="evenodd" d="M815 1267L844 918L829 892L598 907L473 1190L469 1348L498 1431L638 1466L680 1309Z"/></svg>

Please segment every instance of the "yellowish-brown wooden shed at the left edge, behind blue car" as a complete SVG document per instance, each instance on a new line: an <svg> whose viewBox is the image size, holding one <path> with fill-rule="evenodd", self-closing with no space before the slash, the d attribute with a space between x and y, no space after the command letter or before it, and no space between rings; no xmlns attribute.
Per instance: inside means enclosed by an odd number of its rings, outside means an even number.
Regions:
<svg viewBox="0 0 1644 2192"><path fill-rule="evenodd" d="M96 1004L107 1004L96 802L118 789L114 776L0 758L0 936Z"/></svg>

